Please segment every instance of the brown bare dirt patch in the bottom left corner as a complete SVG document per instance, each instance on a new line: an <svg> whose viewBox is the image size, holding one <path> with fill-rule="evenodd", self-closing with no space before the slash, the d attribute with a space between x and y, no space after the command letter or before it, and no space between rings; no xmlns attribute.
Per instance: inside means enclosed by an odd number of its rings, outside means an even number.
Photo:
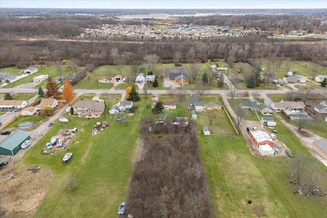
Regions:
<svg viewBox="0 0 327 218"><path fill-rule="evenodd" d="M53 173L39 166L7 168L0 175L1 216L32 216L43 201ZM7 177L14 175L12 179Z"/></svg>

